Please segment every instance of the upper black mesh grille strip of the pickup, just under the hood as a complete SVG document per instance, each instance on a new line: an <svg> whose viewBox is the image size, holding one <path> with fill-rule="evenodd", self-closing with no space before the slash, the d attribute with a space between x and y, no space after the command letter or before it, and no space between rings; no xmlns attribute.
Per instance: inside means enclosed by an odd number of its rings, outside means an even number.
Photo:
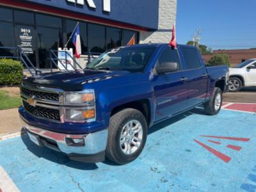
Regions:
<svg viewBox="0 0 256 192"><path fill-rule="evenodd" d="M28 90L27 88L24 88L24 87L20 87L20 92L29 97L34 96L36 99L59 101L58 93L38 92L38 91Z"/></svg>

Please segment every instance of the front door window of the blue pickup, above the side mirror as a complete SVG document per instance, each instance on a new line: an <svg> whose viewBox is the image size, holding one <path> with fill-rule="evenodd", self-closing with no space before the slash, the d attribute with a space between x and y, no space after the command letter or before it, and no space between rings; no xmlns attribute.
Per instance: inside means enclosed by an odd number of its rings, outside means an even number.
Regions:
<svg viewBox="0 0 256 192"><path fill-rule="evenodd" d="M179 56L177 54L176 49L167 48L164 49L164 51L161 52L161 55L159 56L158 62L156 67L161 66L162 63L178 63L179 69L180 69L180 61Z"/></svg>

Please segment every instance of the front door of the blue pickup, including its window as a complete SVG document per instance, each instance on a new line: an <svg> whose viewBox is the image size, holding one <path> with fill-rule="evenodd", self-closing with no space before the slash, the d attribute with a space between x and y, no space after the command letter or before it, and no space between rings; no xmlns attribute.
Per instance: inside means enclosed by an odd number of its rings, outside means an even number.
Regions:
<svg viewBox="0 0 256 192"><path fill-rule="evenodd" d="M179 69L177 72L156 74L154 76L152 83L156 102L155 121L172 116L187 108L188 83L181 81L182 78L187 78L187 72L182 70L177 49L166 46L160 53L156 68L161 67L166 62L177 63Z"/></svg>

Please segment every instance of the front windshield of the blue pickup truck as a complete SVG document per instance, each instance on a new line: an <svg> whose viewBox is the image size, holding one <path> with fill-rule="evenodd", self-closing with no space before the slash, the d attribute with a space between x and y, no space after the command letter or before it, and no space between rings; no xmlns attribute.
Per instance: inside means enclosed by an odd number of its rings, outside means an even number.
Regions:
<svg viewBox="0 0 256 192"><path fill-rule="evenodd" d="M156 47L120 47L102 53L87 65L90 69L143 72Z"/></svg>

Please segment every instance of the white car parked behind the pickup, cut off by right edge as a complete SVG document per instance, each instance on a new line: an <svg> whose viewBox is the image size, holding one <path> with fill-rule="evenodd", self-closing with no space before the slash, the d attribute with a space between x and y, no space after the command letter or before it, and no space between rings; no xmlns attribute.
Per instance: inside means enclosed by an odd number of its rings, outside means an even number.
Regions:
<svg viewBox="0 0 256 192"><path fill-rule="evenodd" d="M238 92L244 86L256 86L256 59L250 59L229 68L229 91Z"/></svg>

